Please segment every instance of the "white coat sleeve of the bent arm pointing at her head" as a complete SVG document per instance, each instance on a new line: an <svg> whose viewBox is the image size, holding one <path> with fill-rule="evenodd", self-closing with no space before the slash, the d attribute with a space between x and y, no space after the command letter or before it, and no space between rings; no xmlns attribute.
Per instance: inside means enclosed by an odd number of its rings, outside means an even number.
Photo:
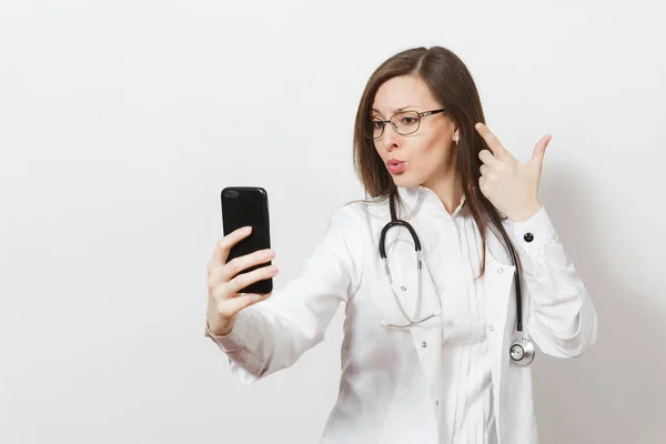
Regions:
<svg viewBox="0 0 666 444"><path fill-rule="evenodd" d="M546 209L525 222L507 220L505 226L523 265L526 332L544 353L581 355L596 342L596 310Z"/></svg>

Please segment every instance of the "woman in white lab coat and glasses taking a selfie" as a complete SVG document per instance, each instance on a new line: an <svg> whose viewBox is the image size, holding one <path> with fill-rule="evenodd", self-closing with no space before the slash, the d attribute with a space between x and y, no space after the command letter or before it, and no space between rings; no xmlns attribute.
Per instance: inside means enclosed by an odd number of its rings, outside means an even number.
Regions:
<svg viewBox="0 0 666 444"><path fill-rule="evenodd" d="M521 164L484 120L453 52L397 53L356 114L355 167L372 199L334 214L303 273L270 300L239 294L278 273L233 278L273 253L225 264L249 231L218 244L206 335L244 383L292 365L345 303L322 442L535 443L535 349L574 357L595 343L593 302L537 196L549 137Z"/></svg>

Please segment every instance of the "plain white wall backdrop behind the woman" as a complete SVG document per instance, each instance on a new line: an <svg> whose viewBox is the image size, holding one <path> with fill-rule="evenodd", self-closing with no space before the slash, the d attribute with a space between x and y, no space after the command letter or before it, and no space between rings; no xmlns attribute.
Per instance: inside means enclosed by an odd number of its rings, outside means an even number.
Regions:
<svg viewBox="0 0 666 444"><path fill-rule="evenodd" d="M316 442L326 340L252 386L204 339L220 190L269 192L280 289L364 196L371 72L444 46L541 180L597 305L581 359L535 362L542 442L666 442L662 4L8 1L0 7L0 442Z"/></svg>

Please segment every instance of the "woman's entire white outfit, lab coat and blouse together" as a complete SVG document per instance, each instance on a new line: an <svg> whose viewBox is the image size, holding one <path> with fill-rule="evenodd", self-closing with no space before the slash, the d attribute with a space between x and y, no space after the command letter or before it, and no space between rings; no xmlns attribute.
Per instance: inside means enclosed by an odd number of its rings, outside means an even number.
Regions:
<svg viewBox="0 0 666 444"><path fill-rule="evenodd" d="M437 316L410 329L382 326L405 322L379 254L387 201L356 202L332 218L301 276L241 311L233 331L213 340L235 377L253 383L321 342L344 302L340 392L322 443L535 443L531 369L508 360L515 266L488 231L486 274L475 281L483 250L464 202L448 214L428 189L398 192L400 216L423 249L418 316ZM525 335L544 353L579 355L596 341L596 312L545 208L504 225L523 264ZM394 290L413 315L416 262L407 231L391 229L386 251Z"/></svg>

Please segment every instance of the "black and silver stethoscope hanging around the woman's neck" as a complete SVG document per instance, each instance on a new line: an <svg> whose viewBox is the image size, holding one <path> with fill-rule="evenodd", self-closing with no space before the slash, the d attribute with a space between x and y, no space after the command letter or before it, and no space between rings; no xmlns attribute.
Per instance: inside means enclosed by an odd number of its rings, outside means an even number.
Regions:
<svg viewBox="0 0 666 444"><path fill-rule="evenodd" d="M391 275L391 268L389 266L389 260L386 259L386 249L384 246L384 243L386 241L386 232L391 228L403 226L403 228L407 229L407 231L412 235L412 239L414 240L414 249L416 250L416 270L417 270L418 290L417 290L416 312L415 313L418 312L418 309L421 306L421 270L423 268L422 261L421 261L421 241L418 240L418 235L416 235L416 231L414 231L414 228L408 222L400 220L395 215L395 193L391 193L391 195L389 196L389 200L390 200L390 209L391 209L391 222L389 222L386 225L384 225L384 228L382 229L382 233L380 235L380 256L384 261L384 270L386 271L386 276L389 278L389 284L391 286L391 292L393 293L393 297L395 299L395 302L397 303L397 306L398 306L400 311L402 312L402 315L405 317L405 320L407 320L407 323L406 324L383 323L383 325L392 326L392 327L396 327L396 329L407 329L414 324L420 324L422 322L425 322L425 321L438 315L438 313L430 313L421 319L413 319L412 316L410 316L407 314L407 312L403 307L403 304L400 302L400 297L397 296L397 294L395 293L395 290L393 289L393 286L394 286L393 285L393 276ZM515 265L517 263L516 253L512 248L509 248L508 250L511 251L513 263ZM523 335L523 295L521 292L521 279L519 279L517 272L514 275L514 282L515 282L515 286L516 286L516 331L518 332L518 339L515 340L511 344L511 346L508 349L508 355L511 356L511 360L515 364L526 366L526 365L532 364L532 361L534 361L534 356L536 353L535 353L535 347L534 347L534 344L532 343L532 341L524 337L524 335Z"/></svg>

